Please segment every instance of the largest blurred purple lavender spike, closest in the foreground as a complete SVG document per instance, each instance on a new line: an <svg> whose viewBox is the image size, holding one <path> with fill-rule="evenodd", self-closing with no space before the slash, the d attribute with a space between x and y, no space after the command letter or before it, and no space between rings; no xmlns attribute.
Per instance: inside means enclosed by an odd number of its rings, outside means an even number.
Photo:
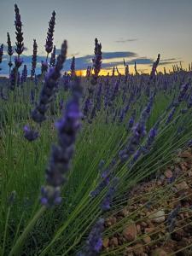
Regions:
<svg viewBox="0 0 192 256"><path fill-rule="evenodd" d="M62 119L56 123L58 145L52 147L49 166L46 169L46 186L41 190L41 203L46 207L53 207L61 203L61 184L67 178L73 157L75 138L80 127L82 113L79 108L79 98L82 89L79 78L74 80L72 90L73 97L67 103Z"/></svg>

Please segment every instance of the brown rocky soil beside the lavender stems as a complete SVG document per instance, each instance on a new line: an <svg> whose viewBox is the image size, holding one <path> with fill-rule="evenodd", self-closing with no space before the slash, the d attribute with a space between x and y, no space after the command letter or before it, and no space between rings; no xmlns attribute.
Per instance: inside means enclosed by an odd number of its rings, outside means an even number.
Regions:
<svg viewBox="0 0 192 256"><path fill-rule="evenodd" d="M105 220L102 255L192 256L192 151L131 191L127 205ZM113 236L108 236L108 231Z"/></svg>

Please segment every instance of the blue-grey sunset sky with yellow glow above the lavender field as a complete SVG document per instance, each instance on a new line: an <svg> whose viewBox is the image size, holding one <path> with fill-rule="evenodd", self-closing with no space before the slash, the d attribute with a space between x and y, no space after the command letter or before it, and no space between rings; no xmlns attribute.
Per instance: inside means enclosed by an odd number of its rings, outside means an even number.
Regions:
<svg viewBox="0 0 192 256"><path fill-rule="evenodd" d="M71 58L76 69L91 65L94 40L102 43L102 73L113 66L123 71L123 58L133 71L148 72L160 53L160 66L187 68L192 61L192 0L0 0L0 44L6 46L7 32L15 45L14 4L20 8L23 22L24 61L30 68L32 43L38 43L38 61L44 61L44 44L51 13L55 10L54 44L57 51L64 39L68 42L65 70ZM1 73L8 73L5 53Z"/></svg>

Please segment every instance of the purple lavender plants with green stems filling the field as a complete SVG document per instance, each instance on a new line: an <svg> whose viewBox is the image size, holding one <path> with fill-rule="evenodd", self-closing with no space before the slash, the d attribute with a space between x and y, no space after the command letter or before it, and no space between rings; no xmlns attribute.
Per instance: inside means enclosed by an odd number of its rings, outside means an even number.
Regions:
<svg viewBox="0 0 192 256"><path fill-rule="evenodd" d="M108 212L124 205L135 183L191 144L191 73L156 75L158 55L149 76L130 75L125 63L125 76L99 77L102 45L96 39L86 78L76 77L73 58L71 75L61 79L67 41L55 58L53 12L42 75L35 76L34 41L31 77L25 67L20 84L24 44L17 5L15 28L15 67L8 38L10 77L0 102L1 253L97 255Z"/></svg>

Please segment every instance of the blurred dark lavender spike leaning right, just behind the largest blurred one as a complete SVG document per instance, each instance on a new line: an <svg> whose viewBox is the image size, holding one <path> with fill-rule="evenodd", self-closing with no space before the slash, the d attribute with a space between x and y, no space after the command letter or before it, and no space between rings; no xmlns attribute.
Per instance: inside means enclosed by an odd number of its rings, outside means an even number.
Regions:
<svg viewBox="0 0 192 256"><path fill-rule="evenodd" d="M52 101L55 95L57 80L61 77L61 69L67 57L67 41L64 41L61 46L61 55L57 57L55 67L49 69L49 73L45 76L44 86L40 94L38 106L32 111L32 119L37 123L42 123L45 118L45 113L49 107L49 102Z"/></svg>

